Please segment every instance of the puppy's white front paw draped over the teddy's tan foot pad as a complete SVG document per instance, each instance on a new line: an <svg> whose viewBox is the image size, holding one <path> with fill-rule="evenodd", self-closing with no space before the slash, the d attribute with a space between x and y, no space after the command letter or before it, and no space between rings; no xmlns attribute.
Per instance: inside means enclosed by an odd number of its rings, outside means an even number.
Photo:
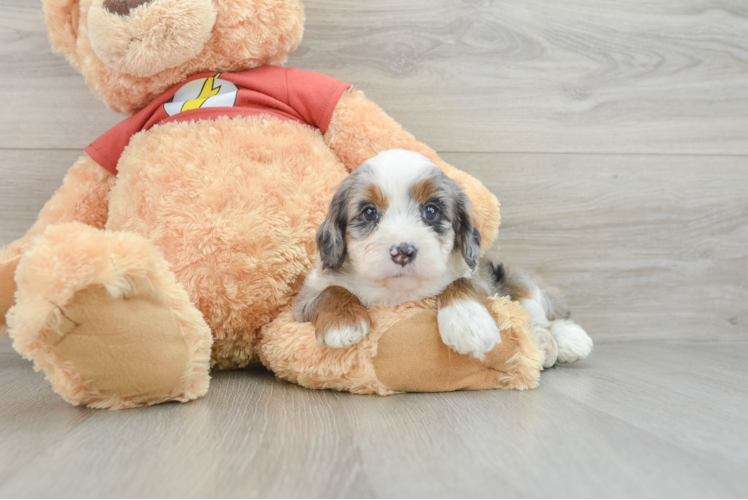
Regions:
<svg viewBox="0 0 748 500"><path fill-rule="evenodd" d="M496 321L481 304L456 301L439 309L437 316L442 341L460 354L470 354L480 360L496 344L501 343L501 332Z"/></svg>

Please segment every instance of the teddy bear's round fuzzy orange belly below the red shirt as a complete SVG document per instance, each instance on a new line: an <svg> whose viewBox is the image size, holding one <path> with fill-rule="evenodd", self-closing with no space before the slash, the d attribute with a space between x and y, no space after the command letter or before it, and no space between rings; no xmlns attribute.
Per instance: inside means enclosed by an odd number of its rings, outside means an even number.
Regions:
<svg viewBox="0 0 748 500"><path fill-rule="evenodd" d="M217 339L214 363L246 366L260 328L311 269L317 227L346 174L319 131L295 122L172 123L133 137L106 227L158 247Z"/></svg>

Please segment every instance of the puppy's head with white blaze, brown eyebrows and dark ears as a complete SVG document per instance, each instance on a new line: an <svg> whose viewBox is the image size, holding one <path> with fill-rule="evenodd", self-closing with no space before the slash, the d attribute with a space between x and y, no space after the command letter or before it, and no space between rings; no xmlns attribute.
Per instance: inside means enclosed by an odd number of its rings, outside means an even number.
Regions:
<svg viewBox="0 0 748 500"><path fill-rule="evenodd" d="M459 185L426 157L392 150L338 187L317 233L324 268L353 270L393 290L417 289L448 266L474 269L480 233Z"/></svg>

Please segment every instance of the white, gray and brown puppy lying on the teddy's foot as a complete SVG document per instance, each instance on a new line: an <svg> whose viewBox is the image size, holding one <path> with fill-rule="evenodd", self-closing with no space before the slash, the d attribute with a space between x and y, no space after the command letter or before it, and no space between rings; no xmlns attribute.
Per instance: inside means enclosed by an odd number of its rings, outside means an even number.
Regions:
<svg viewBox="0 0 748 500"><path fill-rule="evenodd" d="M484 305L498 293L530 312L545 366L586 357L592 341L560 296L494 258L480 261L471 213L460 186L418 153L366 161L338 186L317 232L320 258L297 297L296 320L311 321L320 344L348 347L371 328L367 307L436 296L442 341L483 359L501 342ZM561 339L574 345L561 349Z"/></svg>

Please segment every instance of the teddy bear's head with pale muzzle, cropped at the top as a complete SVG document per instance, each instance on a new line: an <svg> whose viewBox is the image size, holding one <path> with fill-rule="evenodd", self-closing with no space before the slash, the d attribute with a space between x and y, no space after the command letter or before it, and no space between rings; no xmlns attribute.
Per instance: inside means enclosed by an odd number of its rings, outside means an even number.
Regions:
<svg viewBox="0 0 748 500"><path fill-rule="evenodd" d="M185 78L283 64L301 41L299 0L44 0L52 46L115 111Z"/></svg>

